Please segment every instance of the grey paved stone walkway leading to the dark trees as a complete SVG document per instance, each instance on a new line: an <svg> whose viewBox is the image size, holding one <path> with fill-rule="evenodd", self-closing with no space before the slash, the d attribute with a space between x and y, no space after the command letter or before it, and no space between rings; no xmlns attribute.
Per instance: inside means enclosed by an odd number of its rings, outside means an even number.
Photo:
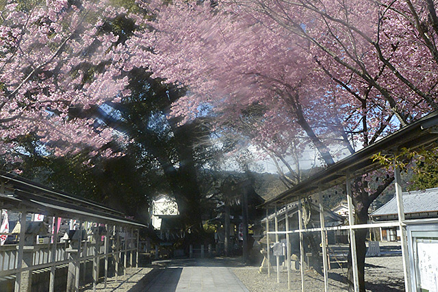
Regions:
<svg viewBox="0 0 438 292"><path fill-rule="evenodd" d="M146 291L248 291L230 267L235 264L217 259L172 261Z"/></svg>

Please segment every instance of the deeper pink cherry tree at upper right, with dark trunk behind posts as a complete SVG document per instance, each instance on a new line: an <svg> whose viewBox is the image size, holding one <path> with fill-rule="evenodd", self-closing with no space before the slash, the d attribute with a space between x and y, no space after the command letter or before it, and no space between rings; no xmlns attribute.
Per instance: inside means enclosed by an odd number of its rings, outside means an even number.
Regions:
<svg viewBox="0 0 438 292"><path fill-rule="evenodd" d="M349 124L360 122L359 137L368 146L391 129L393 115L393 127L404 126L437 109L435 5L427 0L255 1L249 13L268 16L309 42L315 62L338 85L338 96L355 98L349 105L359 103L360 111L350 110ZM366 222L370 204L391 179L373 190L370 176L355 180L357 224ZM361 291L364 233L356 233Z"/></svg>

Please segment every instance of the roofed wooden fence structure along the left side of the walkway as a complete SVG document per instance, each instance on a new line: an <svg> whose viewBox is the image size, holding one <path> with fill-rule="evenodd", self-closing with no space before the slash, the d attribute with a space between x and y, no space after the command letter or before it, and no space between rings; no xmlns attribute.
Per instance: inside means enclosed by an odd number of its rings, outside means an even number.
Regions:
<svg viewBox="0 0 438 292"><path fill-rule="evenodd" d="M19 234L0 234L18 236L18 245L0 247L0 278L15 278L14 287L2 287L2 291L30 291L32 274L42 269L50 269L49 282L44 283L47 287L33 287L32 291L56 291L55 282L58 281L55 271L67 265L66 290L79 292L79 283L86 277L86 267L90 261L92 270L89 272L92 273L95 290L101 276L101 261L105 265L102 275L105 286L110 261L114 263L116 279L120 273L126 272L127 267L138 265L139 229L146 227L143 224L92 200L51 189L14 174L0 172L0 183L0 208L21 213ZM53 232L48 233L46 229L44 234L51 238L51 243L38 244L34 240L37 233L27 233L29 222L26 217L29 213L53 218ZM70 230L64 243L61 243L57 234L57 218L60 217L78 222L77 229ZM87 229L92 231L86 233ZM29 230L37 230L41 235L40 228ZM60 277L59 274L56 276Z"/></svg>

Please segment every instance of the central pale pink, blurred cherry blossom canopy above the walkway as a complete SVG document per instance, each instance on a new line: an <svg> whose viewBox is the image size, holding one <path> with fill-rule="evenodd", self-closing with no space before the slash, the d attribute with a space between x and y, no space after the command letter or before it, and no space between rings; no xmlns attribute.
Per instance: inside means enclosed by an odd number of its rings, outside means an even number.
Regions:
<svg viewBox="0 0 438 292"><path fill-rule="evenodd" d="M323 127L315 131L311 117L302 110L322 105L308 97L324 95L315 84L326 79L314 70L311 55L300 48L304 44L277 38L287 31L274 23L266 27L247 17L235 21L233 14L211 14L209 5L190 7L181 2L159 9L159 19L151 24L155 28L152 34L145 31L129 41L136 51L144 51L131 61L136 66L148 66L154 77L164 77L166 82L189 85L190 94L175 104L174 114L183 114L188 121L203 114L202 105L208 104L220 113L219 124L227 124L242 118L246 111L246 122L257 130L253 135L259 140L256 145L272 148L276 140L279 148L280 140L289 144L291 137L307 133L324 161L333 163L328 147L318 137L327 134L329 139L330 135ZM191 13L187 21L181 22L181 9ZM218 35L222 39L216 38ZM145 44L144 40L157 42ZM257 104L263 109L255 117L248 109ZM325 114L333 116L330 111ZM301 128L290 127L294 122ZM288 134L279 135L285 128L289 128L284 131ZM289 135L292 131L294 135Z"/></svg>

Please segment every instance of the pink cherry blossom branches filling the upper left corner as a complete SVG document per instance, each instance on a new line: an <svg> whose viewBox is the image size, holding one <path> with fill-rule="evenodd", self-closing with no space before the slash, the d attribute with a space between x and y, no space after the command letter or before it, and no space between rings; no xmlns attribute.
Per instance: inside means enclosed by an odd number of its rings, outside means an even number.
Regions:
<svg viewBox="0 0 438 292"><path fill-rule="evenodd" d="M2 155L12 159L16 138L29 133L55 155L113 139L83 112L127 94L113 61L118 36L103 29L125 12L106 1L7 1L0 22Z"/></svg>

